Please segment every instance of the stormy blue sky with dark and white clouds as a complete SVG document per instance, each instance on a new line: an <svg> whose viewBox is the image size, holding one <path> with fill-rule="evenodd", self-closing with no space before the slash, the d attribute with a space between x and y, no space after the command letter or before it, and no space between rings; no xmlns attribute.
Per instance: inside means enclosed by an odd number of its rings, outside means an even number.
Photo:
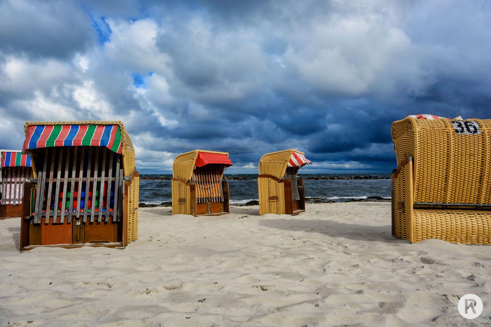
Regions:
<svg viewBox="0 0 491 327"><path fill-rule="evenodd" d="M0 0L0 149L121 120L143 174L292 148L302 173L389 173L392 122L490 118L490 50L485 0Z"/></svg>

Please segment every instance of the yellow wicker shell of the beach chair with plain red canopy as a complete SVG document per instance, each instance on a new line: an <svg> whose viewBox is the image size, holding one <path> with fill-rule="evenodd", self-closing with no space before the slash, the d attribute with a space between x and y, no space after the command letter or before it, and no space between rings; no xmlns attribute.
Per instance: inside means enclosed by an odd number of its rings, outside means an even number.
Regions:
<svg viewBox="0 0 491 327"><path fill-rule="evenodd" d="M192 172L195 169L194 163L198 157L198 152L205 153L219 153L228 156L228 152L217 151L205 151L194 150L186 153L179 154L172 163L172 177L181 177L185 180L191 180ZM222 174L223 175L223 174ZM221 176L220 176L221 179ZM179 199L185 199L185 201L179 201ZM190 187L184 184L182 181L172 181L172 214L190 215L191 192Z"/></svg>

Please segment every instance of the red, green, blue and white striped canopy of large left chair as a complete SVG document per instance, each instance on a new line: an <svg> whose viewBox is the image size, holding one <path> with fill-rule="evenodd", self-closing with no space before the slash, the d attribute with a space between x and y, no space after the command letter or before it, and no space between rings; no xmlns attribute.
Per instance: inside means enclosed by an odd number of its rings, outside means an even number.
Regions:
<svg viewBox="0 0 491 327"><path fill-rule="evenodd" d="M63 146L100 146L121 153L119 125L46 125L28 126L22 151Z"/></svg>

